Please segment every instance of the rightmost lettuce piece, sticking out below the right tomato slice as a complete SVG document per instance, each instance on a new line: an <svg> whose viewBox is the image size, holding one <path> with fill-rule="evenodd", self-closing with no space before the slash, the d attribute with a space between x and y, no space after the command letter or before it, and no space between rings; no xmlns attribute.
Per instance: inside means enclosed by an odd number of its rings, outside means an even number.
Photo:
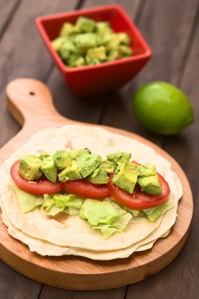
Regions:
<svg viewBox="0 0 199 299"><path fill-rule="evenodd" d="M174 206L174 204L175 204L174 195L170 194L169 199L165 204L159 207L145 209L143 210L143 212L146 214L146 217L149 221L154 222L163 213L171 209Z"/></svg>

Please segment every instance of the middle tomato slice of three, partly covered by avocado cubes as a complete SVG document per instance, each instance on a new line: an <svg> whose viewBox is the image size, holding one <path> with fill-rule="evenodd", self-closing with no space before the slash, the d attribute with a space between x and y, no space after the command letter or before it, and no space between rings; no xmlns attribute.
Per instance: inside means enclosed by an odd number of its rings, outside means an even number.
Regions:
<svg viewBox="0 0 199 299"><path fill-rule="evenodd" d="M110 196L107 185L92 184L85 178L68 180L66 182L59 181L59 184L70 194L81 197L104 199Z"/></svg>

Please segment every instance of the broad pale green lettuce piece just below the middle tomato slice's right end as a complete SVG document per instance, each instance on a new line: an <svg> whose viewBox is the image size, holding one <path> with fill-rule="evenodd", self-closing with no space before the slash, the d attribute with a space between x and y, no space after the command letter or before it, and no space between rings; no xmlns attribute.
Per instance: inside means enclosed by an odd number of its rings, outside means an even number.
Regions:
<svg viewBox="0 0 199 299"><path fill-rule="evenodd" d="M82 219L87 219L94 226L99 223L110 224L119 215L111 201L99 201L96 199L86 199L79 213Z"/></svg>

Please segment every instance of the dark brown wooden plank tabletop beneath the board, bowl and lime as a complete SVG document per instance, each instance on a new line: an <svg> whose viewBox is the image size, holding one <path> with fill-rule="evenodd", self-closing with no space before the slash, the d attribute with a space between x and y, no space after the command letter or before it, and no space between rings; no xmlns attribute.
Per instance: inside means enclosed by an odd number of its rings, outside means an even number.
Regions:
<svg viewBox="0 0 199 299"><path fill-rule="evenodd" d="M117 94L79 99L67 88L34 25L35 17L118 2L127 10L154 53L148 65ZM6 110L4 89L17 77L45 82L64 116L137 133L167 150L185 170L194 195L188 241L164 270L142 282L107 291L75 292L42 286L0 261L2 299L197 299L199 298L199 0L0 0L0 146L19 131ZM132 92L164 80L179 86L194 106L195 122L174 137L145 130L133 117Z"/></svg>

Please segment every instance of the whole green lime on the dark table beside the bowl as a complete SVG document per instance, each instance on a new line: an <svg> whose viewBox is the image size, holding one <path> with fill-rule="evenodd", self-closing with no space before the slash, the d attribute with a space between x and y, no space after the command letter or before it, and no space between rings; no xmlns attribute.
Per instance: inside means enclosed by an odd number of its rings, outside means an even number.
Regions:
<svg viewBox="0 0 199 299"><path fill-rule="evenodd" d="M193 121L193 108L186 95L166 82L151 82L133 97L133 112L148 130L162 135L180 132Z"/></svg>

